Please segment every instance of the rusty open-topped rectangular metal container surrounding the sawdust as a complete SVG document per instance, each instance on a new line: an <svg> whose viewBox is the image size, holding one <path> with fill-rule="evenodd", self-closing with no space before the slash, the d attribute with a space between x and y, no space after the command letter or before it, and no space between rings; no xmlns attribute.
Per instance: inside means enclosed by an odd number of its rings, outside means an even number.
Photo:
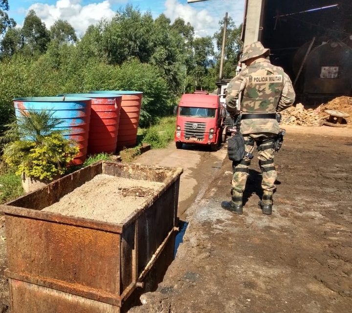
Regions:
<svg viewBox="0 0 352 313"><path fill-rule="evenodd" d="M102 173L165 187L121 224L43 210ZM181 173L98 162L0 206L12 313L119 313L173 238Z"/></svg>

